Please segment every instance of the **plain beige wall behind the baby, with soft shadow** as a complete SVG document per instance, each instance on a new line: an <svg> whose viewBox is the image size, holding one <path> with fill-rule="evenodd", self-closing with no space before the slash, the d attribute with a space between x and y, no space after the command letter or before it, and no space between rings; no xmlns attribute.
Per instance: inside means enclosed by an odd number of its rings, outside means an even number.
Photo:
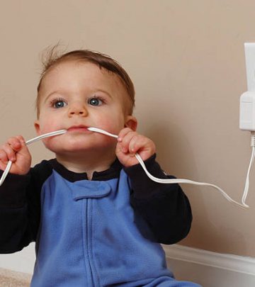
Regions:
<svg viewBox="0 0 255 287"><path fill-rule="evenodd" d="M166 171L241 200L251 150L239 130L239 96L243 43L255 41L254 0L9 0L0 27L1 142L35 136L39 54L60 40L123 64L136 86L139 130L156 142ZM30 150L33 164L52 157L41 143ZM250 184L249 210L212 188L183 186L193 227L181 244L255 257L254 171Z"/></svg>

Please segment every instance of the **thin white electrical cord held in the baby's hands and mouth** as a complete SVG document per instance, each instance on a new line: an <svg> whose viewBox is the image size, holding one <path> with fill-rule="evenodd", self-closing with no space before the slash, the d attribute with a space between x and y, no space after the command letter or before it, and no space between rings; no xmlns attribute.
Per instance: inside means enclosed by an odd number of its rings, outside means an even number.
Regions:
<svg viewBox="0 0 255 287"><path fill-rule="evenodd" d="M91 131L96 132L96 133L102 133L103 135L108 135L110 137L118 138L118 135L113 135L112 133L108 133L108 132L106 132L106 130L101 130L99 128L88 128L88 130L91 130ZM44 135L39 135L38 137L35 137L31 140L28 140L26 142L26 145L29 145L33 142L38 141L38 140L42 140L42 138L45 138L45 137L62 135L64 133L67 133L67 130L57 130L57 131L52 132L52 133L46 133ZM222 188L220 188L219 186L215 186L214 184L206 184L203 182L191 181L189 179L158 179L157 177L152 176L152 174L150 174L149 171L147 171L147 169L145 167L145 163L143 162L142 158L140 157L140 154L136 153L135 157L137 158L138 162L141 164L142 169L144 169L144 171L147 174L147 176L149 177L149 179L152 179L152 181L156 181L159 184L196 184L196 185L200 185L200 186L211 186L213 188L216 188L218 191L220 191L220 193L222 193L222 196L224 196L227 199L227 201L229 201L230 203L233 203L236 206L239 206L240 208L246 209L246 208L249 208L249 206L246 205L245 201L246 201L246 196L247 196L248 191L249 191L249 173L250 173L251 165L254 162L254 157L255 157L255 133L251 133L251 147L252 147L251 161L249 163L249 169L248 169L247 176L246 176L246 184L245 184L244 193L242 196L242 203L238 203L237 201L234 201L230 196L227 195L227 193L225 193L225 191L222 190ZM6 176L11 169L11 164L12 164L12 162L9 161L7 166L6 166L4 173L1 176L0 186L4 183L4 179L6 179Z"/></svg>

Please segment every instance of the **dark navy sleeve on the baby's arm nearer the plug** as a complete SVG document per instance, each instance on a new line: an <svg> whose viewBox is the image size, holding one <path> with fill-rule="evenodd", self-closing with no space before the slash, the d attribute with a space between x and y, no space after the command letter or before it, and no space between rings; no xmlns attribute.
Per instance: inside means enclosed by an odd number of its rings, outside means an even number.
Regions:
<svg viewBox="0 0 255 287"><path fill-rule="evenodd" d="M147 170L160 179L167 176L156 162L156 155L145 161ZM140 164L125 168L130 177L132 207L149 225L157 242L174 244L188 235L192 213L187 196L178 184L158 184L145 174Z"/></svg>

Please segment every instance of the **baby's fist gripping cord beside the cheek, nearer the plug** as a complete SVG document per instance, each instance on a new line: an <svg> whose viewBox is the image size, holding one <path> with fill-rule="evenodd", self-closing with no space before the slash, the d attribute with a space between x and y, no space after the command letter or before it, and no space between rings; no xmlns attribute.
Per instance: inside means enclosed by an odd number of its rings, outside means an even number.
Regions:
<svg viewBox="0 0 255 287"><path fill-rule="evenodd" d="M142 160L151 157L156 151L154 142L144 135L134 132L130 128L123 128L118 135L116 155L125 167L138 164L135 157L139 153Z"/></svg>

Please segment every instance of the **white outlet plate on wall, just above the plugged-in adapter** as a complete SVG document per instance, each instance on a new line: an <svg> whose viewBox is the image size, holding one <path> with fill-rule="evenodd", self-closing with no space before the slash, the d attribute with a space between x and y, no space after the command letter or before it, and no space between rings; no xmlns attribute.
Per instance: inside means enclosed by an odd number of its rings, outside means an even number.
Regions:
<svg viewBox="0 0 255 287"><path fill-rule="evenodd" d="M248 91L255 91L255 43L244 43Z"/></svg>

